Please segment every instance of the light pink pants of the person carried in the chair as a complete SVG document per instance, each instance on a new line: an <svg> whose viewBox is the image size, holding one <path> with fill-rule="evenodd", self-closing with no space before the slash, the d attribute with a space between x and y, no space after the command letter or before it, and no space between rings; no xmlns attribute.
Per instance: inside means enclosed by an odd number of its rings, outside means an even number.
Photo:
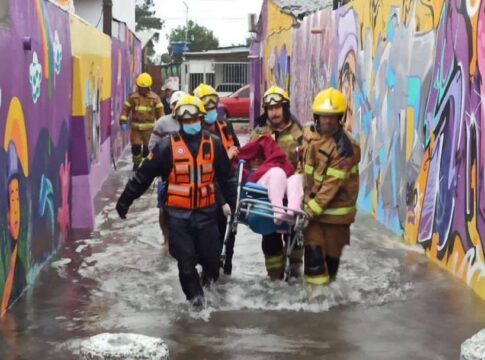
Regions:
<svg viewBox="0 0 485 360"><path fill-rule="evenodd" d="M286 193L288 208L300 210L303 201L303 176L294 174L286 177L286 173L279 167L269 169L259 180L258 184L268 189L268 197L271 204L283 206L283 198ZM293 212L288 212L289 216ZM275 213L275 223L281 224L285 220L283 213Z"/></svg>

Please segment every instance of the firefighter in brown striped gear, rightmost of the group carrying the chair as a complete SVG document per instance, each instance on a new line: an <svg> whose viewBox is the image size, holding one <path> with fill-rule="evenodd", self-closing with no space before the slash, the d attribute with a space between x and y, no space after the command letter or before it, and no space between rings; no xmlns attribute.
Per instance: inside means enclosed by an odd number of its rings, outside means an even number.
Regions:
<svg viewBox="0 0 485 360"><path fill-rule="evenodd" d="M303 149L305 281L326 285L335 280L340 256L350 243L359 193L360 147L343 129L345 96L321 91L312 106L314 125Z"/></svg>

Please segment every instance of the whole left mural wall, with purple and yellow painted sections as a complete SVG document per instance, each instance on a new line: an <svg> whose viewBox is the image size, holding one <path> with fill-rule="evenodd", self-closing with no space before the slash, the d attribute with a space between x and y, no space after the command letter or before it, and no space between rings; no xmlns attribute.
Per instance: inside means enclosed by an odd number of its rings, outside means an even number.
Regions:
<svg viewBox="0 0 485 360"><path fill-rule="evenodd" d="M93 31L45 0L10 1L0 26L0 316L70 227L94 224L91 200L126 144L115 119L140 46Z"/></svg>

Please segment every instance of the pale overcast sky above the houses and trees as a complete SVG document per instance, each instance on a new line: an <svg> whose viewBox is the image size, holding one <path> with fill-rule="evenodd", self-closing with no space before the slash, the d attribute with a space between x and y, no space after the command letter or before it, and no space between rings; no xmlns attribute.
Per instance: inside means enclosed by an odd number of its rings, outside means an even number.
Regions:
<svg viewBox="0 0 485 360"><path fill-rule="evenodd" d="M185 25L186 7L182 0L154 0L157 15L165 21L158 53L167 52L166 35L177 26ZM244 44L248 33L248 14L259 16L263 0L185 0L189 20L214 32L219 46Z"/></svg>

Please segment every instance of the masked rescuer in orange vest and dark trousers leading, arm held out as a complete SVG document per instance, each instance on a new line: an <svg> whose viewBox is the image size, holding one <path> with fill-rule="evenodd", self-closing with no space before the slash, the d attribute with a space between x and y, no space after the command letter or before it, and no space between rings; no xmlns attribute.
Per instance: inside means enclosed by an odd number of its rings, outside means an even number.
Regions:
<svg viewBox="0 0 485 360"><path fill-rule="evenodd" d="M187 300L200 309L202 286L219 277L222 244L216 220L215 182L226 199L236 197L232 169L221 140L202 129L206 111L190 95L181 98L174 116L181 129L162 138L142 162L121 194L116 210L125 218L133 201L161 176L167 184L164 211L170 254L177 260L179 280ZM202 282L196 265L202 265Z"/></svg>

